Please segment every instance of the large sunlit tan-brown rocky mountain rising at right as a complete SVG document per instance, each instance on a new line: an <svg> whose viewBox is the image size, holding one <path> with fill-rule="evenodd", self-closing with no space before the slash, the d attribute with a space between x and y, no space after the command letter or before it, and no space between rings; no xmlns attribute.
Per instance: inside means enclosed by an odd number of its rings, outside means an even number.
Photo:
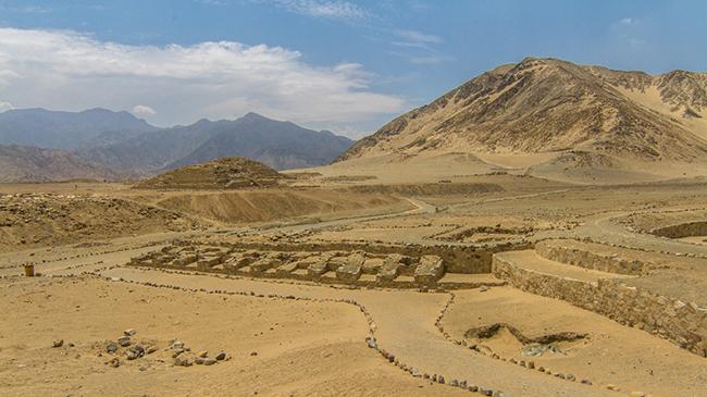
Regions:
<svg viewBox="0 0 707 397"><path fill-rule="evenodd" d="M661 161L682 174L680 164L707 164L706 119L705 73L652 76L528 58L395 119L337 161L466 152L504 165L501 157L530 154L542 159L528 169L535 173Z"/></svg>

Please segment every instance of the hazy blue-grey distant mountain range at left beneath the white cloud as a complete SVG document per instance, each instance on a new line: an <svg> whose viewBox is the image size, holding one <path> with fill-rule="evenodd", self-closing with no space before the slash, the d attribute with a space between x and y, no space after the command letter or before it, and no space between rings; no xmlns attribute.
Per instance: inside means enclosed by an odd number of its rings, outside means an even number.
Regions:
<svg viewBox="0 0 707 397"><path fill-rule="evenodd" d="M256 113L235 121L201 120L159 128L128 112L106 109L10 110L0 113L0 161L7 165L0 179L136 177L234 156L277 170L308 168L330 163L351 144L327 131L315 132ZM72 171L42 171L51 163L42 156L64 159ZM83 174L82 166L86 170Z"/></svg>

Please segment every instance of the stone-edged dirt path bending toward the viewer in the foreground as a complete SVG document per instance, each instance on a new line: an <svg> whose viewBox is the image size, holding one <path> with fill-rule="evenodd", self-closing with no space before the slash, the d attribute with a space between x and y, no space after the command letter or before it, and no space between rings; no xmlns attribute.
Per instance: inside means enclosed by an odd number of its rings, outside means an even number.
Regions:
<svg viewBox="0 0 707 397"><path fill-rule="evenodd" d="M447 294L338 289L313 285L183 275L153 270L117 268L102 276L136 283L156 283L184 288L204 288L256 295L292 295L308 299L352 299L364 306L376 324L380 346L421 373L444 374L446 380L504 390L506 396L613 396L598 386L562 381L536 371L493 360L449 343L434 325L448 299ZM365 335L361 335L363 338Z"/></svg>

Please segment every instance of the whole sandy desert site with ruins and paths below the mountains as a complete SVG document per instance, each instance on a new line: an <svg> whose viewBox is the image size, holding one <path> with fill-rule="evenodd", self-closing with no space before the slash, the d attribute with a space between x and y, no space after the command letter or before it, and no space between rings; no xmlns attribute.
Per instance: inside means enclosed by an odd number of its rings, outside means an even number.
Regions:
<svg viewBox="0 0 707 397"><path fill-rule="evenodd" d="M707 395L707 181L337 170L0 186L2 394Z"/></svg>

